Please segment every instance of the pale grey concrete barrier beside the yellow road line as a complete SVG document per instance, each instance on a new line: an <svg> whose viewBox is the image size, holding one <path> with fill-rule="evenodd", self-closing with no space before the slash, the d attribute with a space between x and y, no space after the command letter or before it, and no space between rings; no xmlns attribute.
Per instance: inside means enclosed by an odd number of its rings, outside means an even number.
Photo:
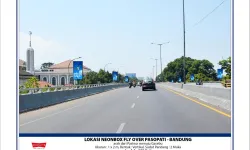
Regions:
<svg viewBox="0 0 250 150"><path fill-rule="evenodd" d="M182 83L160 83L160 86L231 111L231 89Z"/></svg>

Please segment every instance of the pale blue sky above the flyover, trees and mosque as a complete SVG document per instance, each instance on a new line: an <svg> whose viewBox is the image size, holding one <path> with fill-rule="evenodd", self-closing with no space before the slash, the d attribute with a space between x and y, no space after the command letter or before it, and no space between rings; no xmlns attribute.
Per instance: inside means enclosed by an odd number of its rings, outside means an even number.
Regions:
<svg viewBox="0 0 250 150"><path fill-rule="evenodd" d="M185 0L186 57L220 66L230 52L230 0L193 27L222 0ZM35 68L78 59L94 71L152 76L183 56L182 0L20 0L19 58L26 60L29 31ZM154 70L155 75L155 70Z"/></svg>

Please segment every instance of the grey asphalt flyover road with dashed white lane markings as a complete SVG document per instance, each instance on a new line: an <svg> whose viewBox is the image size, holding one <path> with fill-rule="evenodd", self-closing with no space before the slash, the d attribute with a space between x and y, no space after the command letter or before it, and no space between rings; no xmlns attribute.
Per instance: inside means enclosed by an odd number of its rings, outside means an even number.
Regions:
<svg viewBox="0 0 250 150"><path fill-rule="evenodd" d="M231 118L157 86L109 92L20 114L20 133L230 133Z"/></svg>

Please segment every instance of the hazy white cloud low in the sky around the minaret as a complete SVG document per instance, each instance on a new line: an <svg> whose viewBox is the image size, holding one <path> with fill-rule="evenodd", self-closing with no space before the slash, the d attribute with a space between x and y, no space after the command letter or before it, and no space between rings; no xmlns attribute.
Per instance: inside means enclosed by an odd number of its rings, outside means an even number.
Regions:
<svg viewBox="0 0 250 150"><path fill-rule="evenodd" d="M26 50L29 47L29 34L20 32L19 34L19 58L26 61ZM39 69L44 62L59 63L70 59L70 56L65 55L69 49L66 45L62 45L56 41L44 39L43 37L32 35L32 48L35 55L35 68Z"/></svg>

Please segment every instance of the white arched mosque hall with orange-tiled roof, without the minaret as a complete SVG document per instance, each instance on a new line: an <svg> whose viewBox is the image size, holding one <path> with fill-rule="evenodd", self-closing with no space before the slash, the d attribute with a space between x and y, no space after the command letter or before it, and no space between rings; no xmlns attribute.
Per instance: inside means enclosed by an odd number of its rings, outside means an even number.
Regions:
<svg viewBox="0 0 250 150"><path fill-rule="evenodd" d="M83 76L91 69L83 65ZM36 71L35 75L40 81L48 82L54 86L63 86L67 84L76 84L77 81L73 78L73 62L66 60L59 64L52 65L47 69Z"/></svg>

